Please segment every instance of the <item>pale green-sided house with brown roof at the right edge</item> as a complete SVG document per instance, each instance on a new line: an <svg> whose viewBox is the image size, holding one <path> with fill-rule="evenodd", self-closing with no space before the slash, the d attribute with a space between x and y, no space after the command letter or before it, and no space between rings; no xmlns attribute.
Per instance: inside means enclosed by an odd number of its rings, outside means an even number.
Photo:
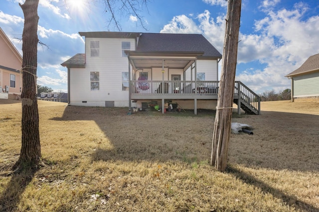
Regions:
<svg viewBox="0 0 319 212"><path fill-rule="evenodd" d="M292 101L319 98L319 54L313 55L297 70L286 75L292 82Z"/></svg>

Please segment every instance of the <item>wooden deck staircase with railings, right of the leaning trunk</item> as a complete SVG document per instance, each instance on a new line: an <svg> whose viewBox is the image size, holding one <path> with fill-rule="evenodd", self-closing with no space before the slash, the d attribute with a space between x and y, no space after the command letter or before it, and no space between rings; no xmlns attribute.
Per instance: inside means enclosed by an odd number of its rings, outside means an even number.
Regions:
<svg viewBox="0 0 319 212"><path fill-rule="evenodd" d="M234 103L238 105L238 114L240 114L240 108L246 114L260 114L260 97L241 81L235 82Z"/></svg>

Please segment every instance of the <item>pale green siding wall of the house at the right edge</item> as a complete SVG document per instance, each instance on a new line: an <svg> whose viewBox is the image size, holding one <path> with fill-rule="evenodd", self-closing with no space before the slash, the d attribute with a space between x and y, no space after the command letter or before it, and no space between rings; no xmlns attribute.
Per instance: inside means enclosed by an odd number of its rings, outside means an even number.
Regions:
<svg viewBox="0 0 319 212"><path fill-rule="evenodd" d="M295 76L294 97L310 97L319 95L319 72Z"/></svg>

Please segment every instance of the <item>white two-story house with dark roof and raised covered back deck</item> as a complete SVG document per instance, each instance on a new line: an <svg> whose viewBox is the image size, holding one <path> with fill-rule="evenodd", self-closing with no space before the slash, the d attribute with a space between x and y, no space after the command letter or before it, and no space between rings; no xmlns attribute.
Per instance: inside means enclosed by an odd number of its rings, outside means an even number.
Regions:
<svg viewBox="0 0 319 212"><path fill-rule="evenodd" d="M194 109L195 114L197 108L216 108L218 62L222 55L204 36L79 34L85 37L85 54L77 54L61 64L68 69L70 105L131 110L154 104L164 108L168 102ZM240 82L236 85L241 89Z"/></svg>

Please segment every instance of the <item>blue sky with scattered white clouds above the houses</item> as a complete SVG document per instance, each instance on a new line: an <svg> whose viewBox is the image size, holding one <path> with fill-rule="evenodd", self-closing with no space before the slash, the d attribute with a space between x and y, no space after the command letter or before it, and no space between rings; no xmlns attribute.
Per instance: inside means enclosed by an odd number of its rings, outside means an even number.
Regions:
<svg viewBox="0 0 319 212"><path fill-rule="evenodd" d="M24 0L0 1L0 27L22 54L16 38L23 30L18 2ZM60 64L84 53L78 32L118 31L102 2L40 0L38 37L49 48L38 46L38 84L66 92L67 70ZM140 9L147 30L126 15L118 16L122 31L202 34L223 53L225 0L149 0ZM239 40L236 80L256 93L290 88L284 76L319 53L319 1L242 0Z"/></svg>

